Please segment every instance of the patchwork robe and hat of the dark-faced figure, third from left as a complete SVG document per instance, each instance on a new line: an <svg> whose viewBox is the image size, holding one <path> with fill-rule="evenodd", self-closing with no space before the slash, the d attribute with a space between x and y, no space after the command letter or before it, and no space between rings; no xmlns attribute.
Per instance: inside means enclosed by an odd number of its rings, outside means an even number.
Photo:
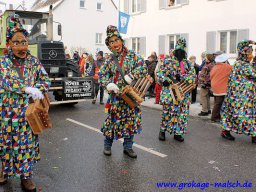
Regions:
<svg viewBox="0 0 256 192"><path fill-rule="evenodd" d="M178 40L175 50L185 49L186 40L181 38ZM194 67L187 59L183 59L180 62L177 58L166 58L164 64L161 66L158 72L159 82L163 84L165 81L170 84L175 84L178 81L185 81L187 84L195 82L195 70ZM174 101L170 94L169 86L162 87L160 103L163 105L162 123L160 131L174 132L175 135L183 135L186 133L189 105L190 105L190 93L184 96L182 101Z"/></svg>

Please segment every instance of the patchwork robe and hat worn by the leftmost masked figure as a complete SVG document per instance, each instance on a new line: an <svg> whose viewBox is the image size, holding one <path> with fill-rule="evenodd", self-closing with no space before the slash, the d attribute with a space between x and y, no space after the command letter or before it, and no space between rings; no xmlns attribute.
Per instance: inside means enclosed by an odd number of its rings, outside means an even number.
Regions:
<svg viewBox="0 0 256 192"><path fill-rule="evenodd" d="M14 29L17 32L16 27ZM13 32L11 29L8 31ZM7 32L7 38L11 37ZM21 64L21 70L17 68L17 63ZM26 58L18 59L12 50L9 50L9 53L1 58L0 158L5 178L31 178L33 164L40 159L38 136L32 133L25 118L29 96L22 88L36 87L45 92L49 86L50 81L42 64L30 53L27 53Z"/></svg>

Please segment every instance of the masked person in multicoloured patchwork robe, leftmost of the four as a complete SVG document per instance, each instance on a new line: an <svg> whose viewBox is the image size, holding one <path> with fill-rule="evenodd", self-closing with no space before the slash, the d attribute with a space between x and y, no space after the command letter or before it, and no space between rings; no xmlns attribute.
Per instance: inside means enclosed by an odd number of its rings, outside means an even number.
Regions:
<svg viewBox="0 0 256 192"><path fill-rule="evenodd" d="M25 191L36 191L31 180L40 160L38 136L26 121L29 99L43 99L50 86L40 61L28 51L28 32L18 15L10 16L6 32L8 53L0 60L0 184L16 176Z"/></svg>

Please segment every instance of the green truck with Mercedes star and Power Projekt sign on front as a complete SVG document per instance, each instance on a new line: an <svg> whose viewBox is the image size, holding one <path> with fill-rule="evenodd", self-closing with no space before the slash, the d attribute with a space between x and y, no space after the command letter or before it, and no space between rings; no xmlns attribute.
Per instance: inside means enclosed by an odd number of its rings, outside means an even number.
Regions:
<svg viewBox="0 0 256 192"><path fill-rule="evenodd" d="M28 31L29 50L36 56L47 71L52 93L51 104L74 105L94 97L94 80L81 77L78 61L68 59L62 39L62 27L53 21L52 6L49 12L6 10L0 16L0 56L6 50L6 26L11 15L17 14ZM53 28L57 23L56 34L60 40L53 40Z"/></svg>

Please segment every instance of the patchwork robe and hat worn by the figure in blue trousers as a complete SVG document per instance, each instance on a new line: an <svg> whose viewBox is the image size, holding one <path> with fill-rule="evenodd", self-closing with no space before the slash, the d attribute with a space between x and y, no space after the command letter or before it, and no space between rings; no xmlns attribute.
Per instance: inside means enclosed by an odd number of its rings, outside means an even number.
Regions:
<svg viewBox="0 0 256 192"><path fill-rule="evenodd" d="M107 36L111 37L116 35L117 37L121 38L116 28L114 26L112 27L113 29L108 29ZM108 38L106 39L106 42L107 41ZM121 62L123 54L125 55L122 65L124 75L132 74L136 79L138 79L144 77L147 74L147 66L144 63L144 60L140 56L137 56L133 51L128 51L125 47L123 47L123 52L121 54L117 54L114 51L112 52L117 57L119 63ZM117 73L117 66L113 61L114 54L110 54L109 57L105 60L105 63L100 68L99 81L103 87L106 87L109 83L115 83L121 91L126 84L124 83L121 74L119 74L117 82L114 81ZM140 133L140 106L132 109L121 98L120 94L109 93L106 109L108 116L101 128L104 136L108 138L119 139L130 138L130 136Z"/></svg>

